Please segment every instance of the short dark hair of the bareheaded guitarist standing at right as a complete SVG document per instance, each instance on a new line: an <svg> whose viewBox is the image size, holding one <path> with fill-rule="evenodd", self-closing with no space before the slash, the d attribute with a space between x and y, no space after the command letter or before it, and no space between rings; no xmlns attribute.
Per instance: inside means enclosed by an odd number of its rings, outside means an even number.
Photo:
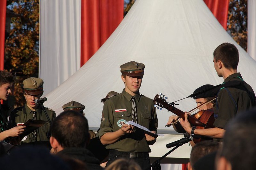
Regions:
<svg viewBox="0 0 256 170"><path fill-rule="evenodd" d="M227 69L237 69L239 52L236 46L231 43L219 45L213 52L215 61L220 60Z"/></svg>

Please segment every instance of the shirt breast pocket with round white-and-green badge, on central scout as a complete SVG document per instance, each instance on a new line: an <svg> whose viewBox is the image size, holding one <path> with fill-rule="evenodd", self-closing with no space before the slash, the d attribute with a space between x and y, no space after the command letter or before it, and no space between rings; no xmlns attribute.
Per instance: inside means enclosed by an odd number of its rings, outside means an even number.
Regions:
<svg viewBox="0 0 256 170"><path fill-rule="evenodd" d="M118 112L114 113L114 126L113 130L118 130L120 127L122 127L123 124L126 124L128 121L131 120L131 113L124 111L124 112Z"/></svg>

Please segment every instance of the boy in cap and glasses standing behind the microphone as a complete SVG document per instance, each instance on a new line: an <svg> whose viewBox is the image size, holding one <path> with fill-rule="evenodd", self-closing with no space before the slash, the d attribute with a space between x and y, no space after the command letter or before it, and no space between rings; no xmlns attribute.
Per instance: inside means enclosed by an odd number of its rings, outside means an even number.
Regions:
<svg viewBox="0 0 256 170"><path fill-rule="evenodd" d="M22 84L22 90L26 99L24 107L16 108L12 111L10 116L11 126L19 126L27 122L29 119L44 120L47 121L43 126L39 127L35 134L34 132L25 136L21 143L31 143L40 141L49 141L50 138L50 127L51 123L55 118L56 114L52 109L45 108L35 103L35 99L39 99L43 94L43 80L41 78L30 77L25 79ZM49 120L47 119L47 116ZM35 115L35 116L33 116ZM39 142L39 143L40 143ZM48 144L48 142L45 142Z"/></svg>

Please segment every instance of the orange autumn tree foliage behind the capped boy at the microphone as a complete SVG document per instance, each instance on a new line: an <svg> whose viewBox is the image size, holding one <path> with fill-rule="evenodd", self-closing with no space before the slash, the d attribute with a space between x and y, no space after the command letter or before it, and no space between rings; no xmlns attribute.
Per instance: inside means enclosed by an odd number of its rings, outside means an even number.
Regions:
<svg viewBox="0 0 256 170"><path fill-rule="evenodd" d="M15 75L15 103L23 106L22 81L39 72L39 0L8 0L7 7L17 17L5 42L4 69Z"/></svg>

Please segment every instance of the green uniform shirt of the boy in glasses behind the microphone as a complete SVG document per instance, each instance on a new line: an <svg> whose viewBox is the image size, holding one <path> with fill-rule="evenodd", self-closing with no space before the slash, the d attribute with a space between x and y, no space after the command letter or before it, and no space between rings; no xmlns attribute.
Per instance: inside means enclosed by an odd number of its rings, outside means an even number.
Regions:
<svg viewBox="0 0 256 170"><path fill-rule="evenodd" d="M56 118L56 114L52 109L45 108L49 119L51 122ZM37 114L37 120L46 120L47 123L45 123L43 126L39 127L37 129L37 141L49 141L49 138L47 137L47 133L49 136L50 133L50 123L47 120L47 117L42 110L41 106L38 107L38 109L35 110ZM16 125L21 125L25 122L27 122L29 119L33 119L33 112L30 108L28 108L27 104L25 104L24 107L16 108L14 111L12 111L10 116L10 123L11 126L14 127ZM35 142L33 140L32 133L25 136L22 139L22 142L29 143L29 142Z"/></svg>

